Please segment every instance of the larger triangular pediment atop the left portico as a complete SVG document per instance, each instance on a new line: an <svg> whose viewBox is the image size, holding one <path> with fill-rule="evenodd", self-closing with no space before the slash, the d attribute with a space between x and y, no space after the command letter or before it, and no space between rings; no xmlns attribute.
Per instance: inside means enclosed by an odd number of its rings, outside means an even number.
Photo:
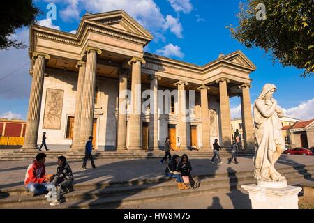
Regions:
<svg viewBox="0 0 314 223"><path fill-rule="evenodd" d="M138 22L136 22L124 10L117 10L108 13L98 13L92 15L85 15L86 19L92 22L97 22L105 26L110 26L120 31L133 33L144 38L153 38L151 33L144 29Z"/></svg>

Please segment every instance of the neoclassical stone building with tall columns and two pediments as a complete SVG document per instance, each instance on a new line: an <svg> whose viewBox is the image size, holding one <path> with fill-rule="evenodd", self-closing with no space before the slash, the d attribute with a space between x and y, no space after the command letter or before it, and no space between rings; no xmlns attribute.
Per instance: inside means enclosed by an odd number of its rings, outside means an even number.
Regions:
<svg viewBox="0 0 314 223"><path fill-rule="evenodd" d="M206 151L214 139L228 147L230 97L238 96L244 146L252 148L249 75L254 64L240 51L220 54L204 66L169 59L143 51L152 38L123 10L87 13L75 34L33 25L32 84L22 148L38 148L43 132L50 148L77 151L90 135L95 148L105 151L156 151L166 137L180 150L195 145ZM143 110L142 92L147 89L150 104ZM131 96L122 94L124 90ZM167 97L160 90L179 91L174 91L177 97ZM192 90L194 105L188 102ZM167 112L165 105L170 107ZM128 112L119 112L125 108Z"/></svg>

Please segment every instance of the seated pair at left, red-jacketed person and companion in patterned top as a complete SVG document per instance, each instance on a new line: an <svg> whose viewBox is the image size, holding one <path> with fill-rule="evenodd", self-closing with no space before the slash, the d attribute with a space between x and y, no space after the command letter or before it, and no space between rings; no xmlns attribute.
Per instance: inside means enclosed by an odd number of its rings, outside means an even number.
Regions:
<svg viewBox="0 0 314 223"><path fill-rule="evenodd" d="M46 174L45 161L45 153L36 155L36 160L27 167L24 184L34 196L47 193L45 197L51 201L50 205L56 206L60 204L62 190L72 187L73 173L64 156L58 157L57 173L54 175Z"/></svg>

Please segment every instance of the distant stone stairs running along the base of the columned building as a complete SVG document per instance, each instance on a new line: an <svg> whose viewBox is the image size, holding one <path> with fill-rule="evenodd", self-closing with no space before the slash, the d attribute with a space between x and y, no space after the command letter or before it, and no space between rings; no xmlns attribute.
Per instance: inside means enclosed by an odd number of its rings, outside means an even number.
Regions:
<svg viewBox="0 0 314 223"><path fill-rule="evenodd" d="M18 160L33 160L39 152L36 151L20 151L20 150L0 150L0 161L18 161ZM47 158L57 159L60 155L65 155L67 160L77 161L82 160L84 157L84 152L73 152L73 151L43 151L47 155ZM212 157L212 151L172 151L172 155L177 154L179 156L186 153L190 158L209 158ZM238 156L253 157L255 151L238 151ZM149 158L160 158L163 157L165 153L163 151L143 151L143 152L120 152L120 151L94 151L93 157L95 160L103 159L149 159ZM220 151L220 156L229 157L230 151L223 150Z"/></svg>

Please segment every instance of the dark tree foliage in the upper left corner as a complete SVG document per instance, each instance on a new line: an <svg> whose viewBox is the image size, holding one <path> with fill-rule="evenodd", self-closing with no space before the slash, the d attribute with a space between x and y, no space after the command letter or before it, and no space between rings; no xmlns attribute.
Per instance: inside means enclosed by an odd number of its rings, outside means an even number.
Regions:
<svg viewBox="0 0 314 223"><path fill-rule="evenodd" d="M0 49L10 47L25 48L23 42L11 39L16 29L36 22L40 10L33 6L32 0L9 0L1 3L0 10Z"/></svg>

